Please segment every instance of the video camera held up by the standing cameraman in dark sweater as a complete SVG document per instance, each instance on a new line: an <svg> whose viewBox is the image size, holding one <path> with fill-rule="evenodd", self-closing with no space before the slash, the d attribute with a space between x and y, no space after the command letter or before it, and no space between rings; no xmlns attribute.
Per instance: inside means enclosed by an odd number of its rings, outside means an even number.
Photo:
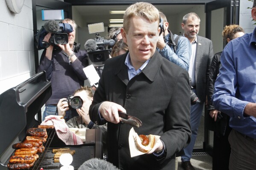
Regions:
<svg viewBox="0 0 256 170"><path fill-rule="evenodd" d="M52 33L49 43L43 41L48 33ZM73 32L73 27L69 23L58 23L55 20L47 21L35 35L35 46L38 50L45 49L49 45L67 44L68 33Z"/></svg>

